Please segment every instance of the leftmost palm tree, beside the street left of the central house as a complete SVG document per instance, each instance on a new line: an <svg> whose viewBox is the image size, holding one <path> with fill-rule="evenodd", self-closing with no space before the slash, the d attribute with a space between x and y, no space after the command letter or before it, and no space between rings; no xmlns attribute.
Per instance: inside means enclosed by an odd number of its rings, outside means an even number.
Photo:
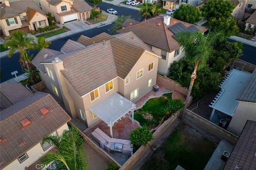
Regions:
<svg viewBox="0 0 256 170"><path fill-rule="evenodd" d="M6 37L6 43L5 47L10 47L8 56L11 57L15 50L18 50L20 53L20 63L22 67L25 67L25 53L26 49L31 49L33 45L31 44L31 41L34 40L34 38L28 37L27 33L21 32L20 30L17 30L13 32L9 37Z"/></svg>

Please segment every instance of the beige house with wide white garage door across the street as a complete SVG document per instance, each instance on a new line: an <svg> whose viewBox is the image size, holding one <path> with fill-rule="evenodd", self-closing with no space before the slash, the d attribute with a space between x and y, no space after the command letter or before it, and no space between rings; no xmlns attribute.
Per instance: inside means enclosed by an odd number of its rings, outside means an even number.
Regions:
<svg viewBox="0 0 256 170"><path fill-rule="evenodd" d="M90 18L92 7L80 0L41 0L45 13L51 13L57 22L64 24L68 21L85 21Z"/></svg>

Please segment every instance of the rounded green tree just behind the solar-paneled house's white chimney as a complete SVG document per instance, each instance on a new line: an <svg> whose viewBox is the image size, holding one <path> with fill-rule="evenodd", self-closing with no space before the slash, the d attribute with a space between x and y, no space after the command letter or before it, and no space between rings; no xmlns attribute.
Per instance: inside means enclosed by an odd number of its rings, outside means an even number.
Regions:
<svg viewBox="0 0 256 170"><path fill-rule="evenodd" d="M202 17L201 12L199 12L195 6L182 4L178 10L175 10L173 13L173 18L195 24L200 21Z"/></svg>

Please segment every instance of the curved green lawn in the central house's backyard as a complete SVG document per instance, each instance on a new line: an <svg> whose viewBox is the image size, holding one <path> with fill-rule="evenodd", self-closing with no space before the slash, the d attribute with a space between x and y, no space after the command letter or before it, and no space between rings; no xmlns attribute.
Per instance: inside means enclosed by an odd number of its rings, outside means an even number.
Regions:
<svg viewBox="0 0 256 170"><path fill-rule="evenodd" d="M168 99L172 98L172 94L164 94L162 97L153 98L140 109L134 112L134 119L140 122L140 125L146 125L154 128L162 120L165 113L162 107L167 104Z"/></svg>

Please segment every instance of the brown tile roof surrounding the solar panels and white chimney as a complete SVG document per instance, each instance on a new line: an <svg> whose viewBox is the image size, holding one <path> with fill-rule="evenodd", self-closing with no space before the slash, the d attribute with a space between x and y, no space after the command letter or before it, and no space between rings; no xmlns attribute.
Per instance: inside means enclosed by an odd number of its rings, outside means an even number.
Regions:
<svg viewBox="0 0 256 170"><path fill-rule="evenodd" d="M172 37L174 33L168 28L176 23L182 23L187 28L193 25L171 18L170 25L167 26L164 23L164 18L162 16L157 16L155 18L151 18L130 27L123 28L121 30L118 30L117 32L124 33L132 31L144 43L166 50L167 52L172 52L173 50L179 48L180 45L178 41ZM195 27L202 32L205 32L207 30L197 25L195 25Z"/></svg>

